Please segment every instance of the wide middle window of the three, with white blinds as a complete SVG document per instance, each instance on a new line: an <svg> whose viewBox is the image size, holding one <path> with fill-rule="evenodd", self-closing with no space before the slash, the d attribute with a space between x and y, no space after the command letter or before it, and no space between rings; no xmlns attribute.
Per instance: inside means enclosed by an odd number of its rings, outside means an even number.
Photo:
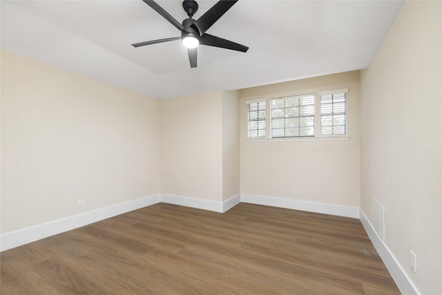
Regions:
<svg viewBox="0 0 442 295"><path fill-rule="evenodd" d="M315 95L271 99L271 137L313 137Z"/></svg>

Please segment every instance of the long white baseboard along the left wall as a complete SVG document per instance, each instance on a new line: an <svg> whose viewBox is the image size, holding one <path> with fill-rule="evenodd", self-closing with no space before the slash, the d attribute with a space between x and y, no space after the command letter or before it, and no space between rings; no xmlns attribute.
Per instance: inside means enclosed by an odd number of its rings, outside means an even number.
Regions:
<svg viewBox="0 0 442 295"><path fill-rule="evenodd" d="M26 229L20 229L19 231L12 231L11 233L0 236L0 251L19 247L27 244L28 242L34 242L42 238L47 238L48 236L60 234L64 231L70 231L71 229L83 227L84 225L89 225L90 223L97 222L99 220L104 220L122 213L151 206L158 202L161 202L160 194L130 202L115 204L102 209L88 211L75 216L47 222L42 225L36 225L35 227L28 227Z"/></svg>

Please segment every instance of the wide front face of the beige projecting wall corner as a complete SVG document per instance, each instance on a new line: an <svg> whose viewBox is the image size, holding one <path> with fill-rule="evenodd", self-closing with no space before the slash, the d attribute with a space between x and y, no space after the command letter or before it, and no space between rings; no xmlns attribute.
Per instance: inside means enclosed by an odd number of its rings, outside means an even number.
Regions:
<svg viewBox="0 0 442 295"><path fill-rule="evenodd" d="M162 99L162 193L222 200L222 91Z"/></svg>

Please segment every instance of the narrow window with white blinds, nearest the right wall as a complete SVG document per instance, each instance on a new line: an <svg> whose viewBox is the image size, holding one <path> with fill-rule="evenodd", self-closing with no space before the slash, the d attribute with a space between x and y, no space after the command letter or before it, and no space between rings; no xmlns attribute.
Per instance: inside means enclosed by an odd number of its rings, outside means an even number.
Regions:
<svg viewBox="0 0 442 295"><path fill-rule="evenodd" d="M345 96L345 93L333 93L320 96L321 135L347 134Z"/></svg>

